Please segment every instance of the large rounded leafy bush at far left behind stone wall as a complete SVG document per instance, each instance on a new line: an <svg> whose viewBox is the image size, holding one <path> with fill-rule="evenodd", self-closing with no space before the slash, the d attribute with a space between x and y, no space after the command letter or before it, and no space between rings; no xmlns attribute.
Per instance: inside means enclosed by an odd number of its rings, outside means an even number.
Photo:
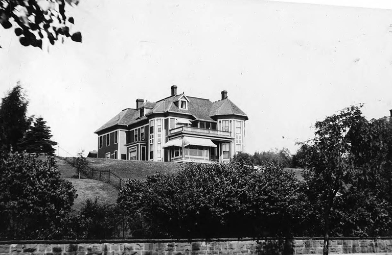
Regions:
<svg viewBox="0 0 392 255"><path fill-rule="evenodd" d="M61 179L54 158L9 152L0 156L0 238L61 239L76 190Z"/></svg>

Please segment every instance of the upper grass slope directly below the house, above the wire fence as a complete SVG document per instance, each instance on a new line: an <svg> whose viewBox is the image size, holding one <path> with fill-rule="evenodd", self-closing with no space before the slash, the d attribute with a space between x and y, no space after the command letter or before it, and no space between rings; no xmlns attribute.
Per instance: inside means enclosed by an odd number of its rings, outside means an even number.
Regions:
<svg viewBox="0 0 392 255"><path fill-rule="evenodd" d="M123 180L132 178L146 179L148 175L156 172L175 173L181 168L180 163L173 162L151 162L133 160L115 160L88 158L88 166L94 170L110 170Z"/></svg>

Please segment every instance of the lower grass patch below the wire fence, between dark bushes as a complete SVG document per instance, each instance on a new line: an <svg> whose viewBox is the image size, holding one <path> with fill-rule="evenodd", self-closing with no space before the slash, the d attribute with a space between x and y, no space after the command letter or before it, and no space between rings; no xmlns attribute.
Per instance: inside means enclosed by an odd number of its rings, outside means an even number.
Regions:
<svg viewBox="0 0 392 255"><path fill-rule="evenodd" d="M98 198L100 202L111 204L117 201L119 191L110 184L90 179L66 178L65 180L72 183L78 195L74 201L74 209L80 210L88 198L93 200Z"/></svg>

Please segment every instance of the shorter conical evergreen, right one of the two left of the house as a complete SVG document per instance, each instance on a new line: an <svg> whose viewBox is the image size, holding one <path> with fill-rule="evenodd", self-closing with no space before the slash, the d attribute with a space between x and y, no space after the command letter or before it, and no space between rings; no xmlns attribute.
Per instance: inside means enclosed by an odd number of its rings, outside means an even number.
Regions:
<svg viewBox="0 0 392 255"><path fill-rule="evenodd" d="M57 145L57 142L51 140L52 134L46 123L42 117L38 117L26 132L22 147L27 152L54 156L53 146Z"/></svg>

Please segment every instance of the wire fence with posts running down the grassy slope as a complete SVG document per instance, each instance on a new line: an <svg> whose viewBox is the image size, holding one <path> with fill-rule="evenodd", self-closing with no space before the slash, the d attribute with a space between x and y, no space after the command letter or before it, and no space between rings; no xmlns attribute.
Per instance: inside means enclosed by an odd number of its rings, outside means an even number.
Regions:
<svg viewBox="0 0 392 255"><path fill-rule="evenodd" d="M76 158L65 158L65 160L73 167L76 166L75 161ZM86 176L88 179L94 179L97 181L105 182L117 189L121 189L121 187L125 184L125 180L122 179L120 176L117 174L113 173L108 170L101 170L101 169L94 169L93 167L90 166L85 166L80 169L81 174Z"/></svg>

